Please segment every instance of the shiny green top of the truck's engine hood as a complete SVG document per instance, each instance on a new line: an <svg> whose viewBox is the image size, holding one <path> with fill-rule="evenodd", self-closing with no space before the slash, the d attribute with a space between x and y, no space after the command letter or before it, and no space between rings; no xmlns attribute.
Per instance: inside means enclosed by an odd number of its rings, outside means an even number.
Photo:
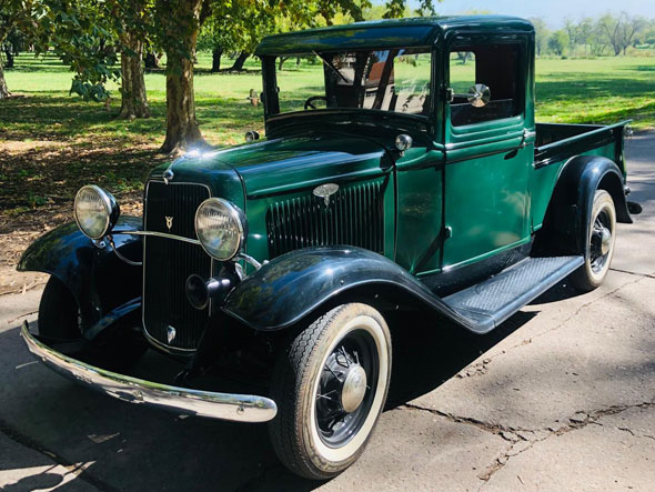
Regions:
<svg viewBox="0 0 655 492"><path fill-rule="evenodd" d="M246 197L379 175L390 167L382 145L367 138L320 133L189 152L172 164L158 167L151 175L159 179L171 169L175 182L208 184L215 197L243 207Z"/></svg>

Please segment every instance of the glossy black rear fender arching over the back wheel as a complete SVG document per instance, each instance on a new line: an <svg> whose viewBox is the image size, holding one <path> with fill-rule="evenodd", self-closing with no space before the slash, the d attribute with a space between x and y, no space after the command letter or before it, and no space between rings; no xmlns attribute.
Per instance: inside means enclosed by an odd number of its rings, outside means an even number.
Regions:
<svg viewBox="0 0 655 492"><path fill-rule="evenodd" d="M588 217L594 207L594 195L599 189L612 195L616 220L632 223L624 185L623 174L612 160L598 155L571 159L557 179L544 227L535 240L535 250L542 253L586 254Z"/></svg>

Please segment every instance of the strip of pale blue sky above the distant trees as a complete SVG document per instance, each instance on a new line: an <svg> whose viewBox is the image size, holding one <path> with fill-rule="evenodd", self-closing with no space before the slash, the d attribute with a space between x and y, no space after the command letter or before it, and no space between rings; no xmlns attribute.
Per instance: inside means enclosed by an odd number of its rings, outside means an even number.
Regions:
<svg viewBox="0 0 655 492"><path fill-rule="evenodd" d="M411 3L415 6L419 2ZM566 17L580 19L608 11L618 13L621 10L655 19L655 0L443 0L437 6L437 12L443 16L472 9L517 17L542 17L553 28L561 27Z"/></svg>

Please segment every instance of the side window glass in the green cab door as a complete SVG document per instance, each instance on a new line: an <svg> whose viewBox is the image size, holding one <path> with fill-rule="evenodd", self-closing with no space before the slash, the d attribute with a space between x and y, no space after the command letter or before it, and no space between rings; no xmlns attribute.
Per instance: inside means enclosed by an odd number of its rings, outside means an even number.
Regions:
<svg viewBox="0 0 655 492"><path fill-rule="evenodd" d="M523 112L520 44L458 46L450 53L450 88L453 127L510 118ZM464 97L476 83L487 86L488 103L482 108Z"/></svg>

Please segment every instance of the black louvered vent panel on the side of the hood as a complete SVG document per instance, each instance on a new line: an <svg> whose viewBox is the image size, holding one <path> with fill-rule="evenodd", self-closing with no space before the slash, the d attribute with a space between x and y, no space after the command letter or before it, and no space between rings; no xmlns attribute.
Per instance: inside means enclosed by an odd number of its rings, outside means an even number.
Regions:
<svg viewBox="0 0 655 492"><path fill-rule="evenodd" d="M308 194L273 203L266 212L269 255L345 244L384 252L383 180L340 189L325 205Z"/></svg>

